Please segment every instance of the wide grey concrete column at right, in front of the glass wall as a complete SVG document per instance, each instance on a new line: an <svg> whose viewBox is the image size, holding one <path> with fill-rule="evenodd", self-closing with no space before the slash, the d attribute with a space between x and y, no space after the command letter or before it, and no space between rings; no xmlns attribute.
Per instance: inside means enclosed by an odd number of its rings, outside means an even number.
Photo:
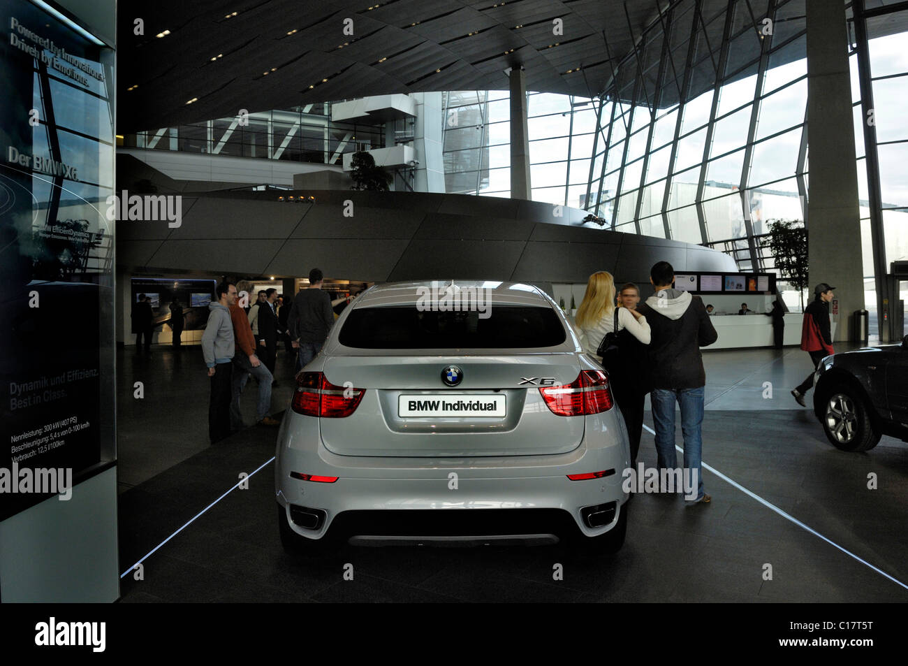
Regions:
<svg viewBox="0 0 908 666"><path fill-rule="evenodd" d="M851 313L864 309L864 266L845 8L841 0L807 0L806 13L808 298L814 297L817 283L836 287L839 314L834 338L846 341Z"/></svg>

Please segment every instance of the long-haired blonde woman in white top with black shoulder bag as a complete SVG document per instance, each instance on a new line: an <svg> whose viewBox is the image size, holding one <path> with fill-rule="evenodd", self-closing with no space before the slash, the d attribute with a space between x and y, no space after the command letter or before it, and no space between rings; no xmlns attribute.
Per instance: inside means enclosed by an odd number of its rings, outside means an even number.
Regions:
<svg viewBox="0 0 908 666"><path fill-rule="evenodd" d="M636 287L627 284L622 287L622 294L630 288ZM628 300L628 303L631 301ZM612 394L627 425L633 465L640 448L643 408L648 393L645 381L646 347L642 345L649 344L650 331L646 317L636 310L619 307L617 312L618 346L621 353L618 354L619 363L616 367L609 367L607 370ZM577 308L576 322L584 351L602 363L602 358L596 353L599 343L615 328L615 279L611 273L599 271L589 276L587 292L584 293L583 302Z"/></svg>

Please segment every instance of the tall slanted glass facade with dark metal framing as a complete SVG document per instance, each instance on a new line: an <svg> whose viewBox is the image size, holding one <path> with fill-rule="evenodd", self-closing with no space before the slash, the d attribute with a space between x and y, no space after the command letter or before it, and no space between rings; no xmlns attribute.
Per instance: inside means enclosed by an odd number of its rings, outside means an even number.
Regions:
<svg viewBox="0 0 908 666"><path fill-rule="evenodd" d="M528 94L532 198L585 208L617 231L706 244L742 270L772 270L768 224L804 224L809 155L804 0L671 3L595 99ZM895 11L892 11L892 10ZM908 9L866 20L886 263L908 259ZM848 8L854 139L869 310L873 241L854 13ZM450 139L446 165L489 147L489 178L449 192L509 195L508 93L449 93L447 108L488 97L485 128ZM494 129L493 129L494 128ZM492 136L495 137L494 142ZM483 143L485 142L485 143ZM464 167L461 171L466 171ZM495 174L495 175L493 175ZM903 298L908 294L903 293ZM872 313L873 318L873 313Z"/></svg>

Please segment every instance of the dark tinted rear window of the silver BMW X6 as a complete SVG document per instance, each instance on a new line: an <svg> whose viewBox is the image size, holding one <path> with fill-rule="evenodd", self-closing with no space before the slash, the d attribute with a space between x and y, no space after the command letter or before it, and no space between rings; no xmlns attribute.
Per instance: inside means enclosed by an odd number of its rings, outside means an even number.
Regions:
<svg viewBox="0 0 908 666"><path fill-rule="evenodd" d="M483 319L479 315L488 315ZM358 349L520 349L567 338L549 307L495 305L486 313L428 312L414 305L357 308L340 342Z"/></svg>

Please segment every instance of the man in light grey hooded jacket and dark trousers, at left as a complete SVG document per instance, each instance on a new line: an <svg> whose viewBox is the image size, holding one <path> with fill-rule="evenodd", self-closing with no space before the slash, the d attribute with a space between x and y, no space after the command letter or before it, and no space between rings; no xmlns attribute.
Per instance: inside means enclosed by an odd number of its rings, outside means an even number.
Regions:
<svg viewBox="0 0 908 666"><path fill-rule="evenodd" d="M236 285L218 284L217 302L208 304L208 323L202 333L202 355L212 379L212 397L208 403L208 437L220 442L230 435L231 368L233 361L233 323L230 306L236 303Z"/></svg>

